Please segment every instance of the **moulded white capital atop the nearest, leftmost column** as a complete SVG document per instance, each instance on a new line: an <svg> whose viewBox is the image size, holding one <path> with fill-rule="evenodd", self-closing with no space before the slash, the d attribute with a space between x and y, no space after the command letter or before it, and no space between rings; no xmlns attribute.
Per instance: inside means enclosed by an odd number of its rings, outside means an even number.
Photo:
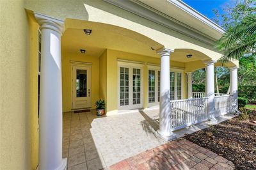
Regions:
<svg viewBox="0 0 256 170"><path fill-rule="evenodd" d="M41 29L52 29L62 35L64 31L64 22L63 20L54 19L47 15L43 15L41 13L34 12L35 19L37 20L38 24L40 24Z"/></svg>

